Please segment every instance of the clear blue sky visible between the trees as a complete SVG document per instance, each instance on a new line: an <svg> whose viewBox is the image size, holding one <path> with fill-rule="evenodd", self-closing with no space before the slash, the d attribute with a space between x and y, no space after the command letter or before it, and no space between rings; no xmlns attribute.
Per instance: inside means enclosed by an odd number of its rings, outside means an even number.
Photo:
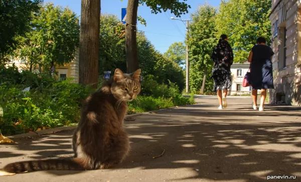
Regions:
<svg viewBox="0 0 301 182"><path fill-rule="evenodd" d="M81 0L44 0L45 3L53 3L54 5L68 6L74 13L80 16ZM190 14L195 12L200 5L205 3L213 7L218 7L220 0L188 0L186 3L191 6L189 13L181 16L182 20L190 20ZM126 8L127 1L123 0L101 0L101 14L114 14L121 21L121 8ZM144 31L147 39L155 46L155 48L164 53L174 42L185 40L186 22L172 20L175 17L170 11L152 14L148 7L138 7L138 16L146 21L146 27L140 23L137 29Z"/></svg>

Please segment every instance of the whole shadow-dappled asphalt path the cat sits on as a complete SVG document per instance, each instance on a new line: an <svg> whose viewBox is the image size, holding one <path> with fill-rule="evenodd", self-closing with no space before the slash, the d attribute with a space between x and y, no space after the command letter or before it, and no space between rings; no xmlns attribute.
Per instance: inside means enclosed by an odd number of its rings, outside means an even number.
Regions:
<svg viewBox="0 0 301 182"><path fill-rule="evenodd" d="M216 98L134 117L125 122L131 140L126 160L112 169L39 171L0 176L0 181L301 181L301 108L266 106L250 98ZM0 168L9 162L71 157L71 131L0 145ZM163 156L158 156L165 150ZM268 179L295 176L296 179ZM286 176L283 176L286 175Z"/></svg>

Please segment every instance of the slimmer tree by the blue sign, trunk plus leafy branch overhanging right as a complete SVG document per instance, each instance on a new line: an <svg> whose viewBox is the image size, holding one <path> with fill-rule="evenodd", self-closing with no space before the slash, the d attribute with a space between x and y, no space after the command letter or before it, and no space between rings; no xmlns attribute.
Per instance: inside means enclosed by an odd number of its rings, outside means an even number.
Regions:
<svg viewBox="0 0 301 182"><path fill-rule="evenodd" d="M186 2L187 0L183 0ZM152 13L162 13L171 10L176 17L188 13L191 8L180 0L128 0L126 9L126 28L125 28L125 45L126 45L126 64L127 72L133 72L138 68L137 42L136 42L136 20L139 3L145 4L152 10Z"/></svg>

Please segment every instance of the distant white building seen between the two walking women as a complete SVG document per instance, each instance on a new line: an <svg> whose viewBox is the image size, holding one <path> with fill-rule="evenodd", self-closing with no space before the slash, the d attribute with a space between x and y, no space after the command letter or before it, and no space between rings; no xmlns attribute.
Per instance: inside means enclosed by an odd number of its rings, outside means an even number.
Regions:
<svg viewBox="0 0 301 182"><path fill-rule="evenodd" d="M243 87L242 80L244 75L249 70L250 63L233 63L231 65L231 74L232 74L232 86L228 91L228 95L241 95L241 94L250 94L252 87ZM260 90L259 92L260 93Z"/></svg>

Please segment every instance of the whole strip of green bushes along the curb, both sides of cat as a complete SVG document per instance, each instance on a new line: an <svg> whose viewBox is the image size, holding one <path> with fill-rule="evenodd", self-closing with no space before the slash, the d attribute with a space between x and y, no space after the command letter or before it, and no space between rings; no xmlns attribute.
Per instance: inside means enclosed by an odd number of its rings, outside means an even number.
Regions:
<svg viewBox="0 0 301 182"><path fill-rule="evenodd" d="M59 81L50 75L0 68L0 129L3 134L54 128L77 123L82 101L93 91L88 86ZM193 104L176 84L159 84L154 76L142 81L142 95L128 103L128 114ZM29 91L23 91L29 87Z"/></svg>

